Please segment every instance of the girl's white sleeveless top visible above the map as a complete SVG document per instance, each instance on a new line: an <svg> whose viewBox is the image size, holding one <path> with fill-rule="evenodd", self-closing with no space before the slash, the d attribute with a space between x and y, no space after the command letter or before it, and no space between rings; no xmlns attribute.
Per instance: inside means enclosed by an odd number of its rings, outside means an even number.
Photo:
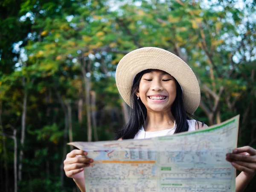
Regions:
<svg viewBox="0 0 256 192"><path fill-rule="evenodd" d="M189 130L188 131L195 131L195 119L187 120L189 124ZM176 122L174 122L174 126L171 129L165 129L162 131L145 131L143 127L140 128L138 133L135 135L134 139L146 139L151 137L160 137L165 135L173 135L176 129Z"/></svg>

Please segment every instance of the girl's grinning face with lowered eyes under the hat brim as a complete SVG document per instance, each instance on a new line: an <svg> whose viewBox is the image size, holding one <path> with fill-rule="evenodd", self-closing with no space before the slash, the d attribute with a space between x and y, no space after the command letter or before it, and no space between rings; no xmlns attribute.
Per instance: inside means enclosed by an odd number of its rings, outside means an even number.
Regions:
<svg viewBox="0 0 256 192"><path fill-rule="evenodd" d="M170 112L176 98L175 78L164 71L152 70L142 76L136 94L148 112Z"/></svg>

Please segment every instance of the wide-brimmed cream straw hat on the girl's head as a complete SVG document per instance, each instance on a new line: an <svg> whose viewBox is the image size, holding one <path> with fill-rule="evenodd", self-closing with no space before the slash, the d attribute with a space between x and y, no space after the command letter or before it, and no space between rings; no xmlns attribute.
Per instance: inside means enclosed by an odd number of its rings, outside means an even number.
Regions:
<svg viewBox="0 0 256 192"><path fill-rule="evenodd" d="M195 74L177 55L157 47L144 47L131 51L117 65L116 86L129 106L133 79L146 69L163 70L172 75L183 90L186 111L195 112L200 102L200 87Z"/></svg>

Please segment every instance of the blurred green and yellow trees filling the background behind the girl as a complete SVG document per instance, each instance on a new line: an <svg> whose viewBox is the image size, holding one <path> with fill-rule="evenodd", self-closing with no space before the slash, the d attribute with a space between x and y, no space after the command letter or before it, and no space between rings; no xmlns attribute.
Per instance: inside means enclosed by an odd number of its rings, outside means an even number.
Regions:
<svg viewBox="0 0 256 192"><path fill-rule="evenodd" d="M113 139L127 114L116 65L140 47L186 61L200 81L199 120L240 114L239 146L256 147L254 3L16 2L0 3L1 191L14 191L14 172L20 192L76 190L63 171L66 143Z"/></svg>

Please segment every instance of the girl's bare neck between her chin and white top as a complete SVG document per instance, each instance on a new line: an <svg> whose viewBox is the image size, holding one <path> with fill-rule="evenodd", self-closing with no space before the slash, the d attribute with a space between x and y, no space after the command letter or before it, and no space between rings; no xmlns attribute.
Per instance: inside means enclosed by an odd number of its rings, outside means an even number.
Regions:
<svg viewBox="0 0 256 192"><path fill-rule="evenodd" d="M173 128L174 122L175 119L171 111L168 113L153 113L148 111L144 129L145 131L163 131Z"/></svg>

